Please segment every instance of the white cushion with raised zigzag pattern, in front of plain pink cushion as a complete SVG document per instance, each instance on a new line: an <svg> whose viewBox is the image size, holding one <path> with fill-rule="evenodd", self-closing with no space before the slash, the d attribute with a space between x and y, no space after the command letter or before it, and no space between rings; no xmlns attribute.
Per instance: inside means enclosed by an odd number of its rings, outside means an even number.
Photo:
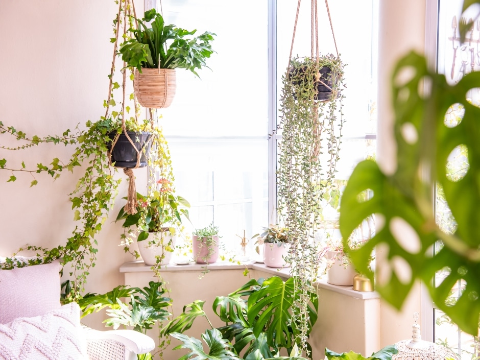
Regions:
<svg viewBox="0 0 480 360"><path fill-rule="evenodd" d="M15 319L0 324L0 359L85 360L88 356L82 332L76 303L43 316Z"/></svg>

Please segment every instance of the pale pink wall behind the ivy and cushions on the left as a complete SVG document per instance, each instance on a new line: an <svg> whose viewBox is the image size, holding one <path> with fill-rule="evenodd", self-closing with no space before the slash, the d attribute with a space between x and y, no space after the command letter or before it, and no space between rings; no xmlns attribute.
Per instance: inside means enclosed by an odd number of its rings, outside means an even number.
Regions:
<svg viewBox="0 0 480 360"><path fill-rule="evenodd" d="M84 128L89 119L104 115L116 11L113 0L2 0L0 121L27 135L45 136L78 124ZM0 135L2 145L8 139ZM67 161L73 150L63 145L0 150L0 159L15 167L23 160L28 169L35 169L38 162L49 164L54 157ZM145 177L145 170L137 172ZM47 174L35 174L38 185L29 187L30 174L16 173L17 181L7 183L11 173L0 171L0 256L27 243L47 248L65 244L76 225L68 194L82 174L80 169L75 174L65 172L55 181ZM118 176L125 178L123 173ZM126 185L124 181L118 199L125 196ZM105 292L123 283L118 268L132 257L118 246L121 231L111 220L104 225L98 236L97 266L91 270L86 291Z"/></svg>

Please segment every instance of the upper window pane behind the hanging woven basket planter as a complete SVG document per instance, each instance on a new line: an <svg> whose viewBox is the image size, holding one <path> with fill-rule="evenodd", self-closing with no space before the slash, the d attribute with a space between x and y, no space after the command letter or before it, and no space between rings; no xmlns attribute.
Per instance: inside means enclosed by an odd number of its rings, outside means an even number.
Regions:
<svg viewBox="0 0 480 360"><path fill-rule="evenodd" d="M268 2L163 0L162 8L167 23L217 34L212 43L217 53L207 59L211 70L198 72L201 80L177 69L174 102L160 110L165 134L266 135Z"/></svg>

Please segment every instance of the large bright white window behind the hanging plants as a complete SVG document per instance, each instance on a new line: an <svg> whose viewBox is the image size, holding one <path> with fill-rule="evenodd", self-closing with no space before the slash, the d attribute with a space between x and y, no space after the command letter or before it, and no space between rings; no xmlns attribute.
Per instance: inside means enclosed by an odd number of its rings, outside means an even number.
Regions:
<svg viewBox="0 0 480 360"><path fill-rule="evenodd" d="M150 0L146 0L150 3ZM201 80L177 71L177 94L159 113L171 151L177 194L191 203L186 230L220 227L234 250L275 221L276 129L281 76L289 61L297 2L275 0L163 0L166 22L217 34L212 69ZM378 0L330 2L344 63L346 90L340 179L373 153L376 133L376 34ZM152 4L147 4L151 6ZM160 9L157 4L157 9ZM310 54L309 4L302 4L294 54ZM349 8L351 11L344 12ZM325 5L319 2L322 53L334 53ZM354 40L352 29L355 29ZM253 248L253 244L252 248Z"/></svg>

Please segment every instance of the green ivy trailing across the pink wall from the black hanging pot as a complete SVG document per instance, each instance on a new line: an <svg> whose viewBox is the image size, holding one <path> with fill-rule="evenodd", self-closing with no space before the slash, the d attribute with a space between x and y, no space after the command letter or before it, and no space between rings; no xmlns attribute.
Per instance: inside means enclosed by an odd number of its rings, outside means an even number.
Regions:
<svg viewBox="0 0 480 360"><path fill-rule="evenodd" d="M26 132L0 122L0 135L11 135L18 141L25 141L23 145L17 147L0 146L4 150L20 151L45 143L76 147L68 161L62 162L59 158L54 158L49 165L38 163L36 169L27 169L23 161L19 165L11 166L6 158L0 159L0 170L9 171L12 174L8 182L15 181L17 179L15 175L23 172L33 176L31 186L34 186L38 183L35 174L47 173L56 179L64 170L73 172L77 166L84 167L84 175L80 177L75 189L69 194L74 210L74 220L77 223L71 236L67 238L66 244L53 249L27 245L0 263L0 269L49 263L55 259L62 259L63 266L70 263L72 268L70 276L74 277L74 283L65 301L77 300L81 297L89 269L95 265L98 251L97 235L108 218L121 182L121 179L114 178L116 168L109 165L107 143L111 139L108 134L112 131L121 131L122 118L126 119L128 130L131 131L142 131L150 125L148 121L138 120L139 106L134 94L130 94L128 98L126 96L129 70L125 68L125 63L122 66L120 80L115 77L118 47L128 40L127 30L133 26L132 17L127 16L133 10L131 0L121 0L117 4L118 13L113 20L114 37L111 38L114 49L108 75L109 90L107 99L104 100L105 116L101 116L97 122L88 121L85 130L77 126L74 131L66 130L61 136L44 137L27 136ZM133 80L133 76L130 75L128 79ZM118 92L121 95L115 98ZM115 100L119 98L121 100ZM160 130L153 129L153 132L154 136L163 138ZM34 251L36 256L25 261L18 260L15 256L22 250Z"/></svg>

